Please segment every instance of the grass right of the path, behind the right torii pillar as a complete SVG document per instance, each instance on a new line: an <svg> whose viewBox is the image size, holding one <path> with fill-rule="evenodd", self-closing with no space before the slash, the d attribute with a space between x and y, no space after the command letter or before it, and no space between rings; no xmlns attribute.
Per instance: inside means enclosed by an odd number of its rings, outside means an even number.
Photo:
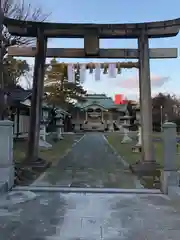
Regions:
<svg viewBox="0 0 180 240"><path fill-rule="evenodd" d="M160 137L161 134L154 134L154 137ZM136 163L137 161L141 160L141 153L133 153L132 147L137 143L135 134L131 137L133 141L127 144L121 144L123 134L120 133L108 133L106 137L109 143L115 148L115 150L119 153L120 156L124 158L129 164ZM156 161L163 167L163 144L162 142L154 142L154 150L155 150L155 159ZM180 150L177 150L180 152ZM177 166L180 168L180 155L177 154Z"/></svg>

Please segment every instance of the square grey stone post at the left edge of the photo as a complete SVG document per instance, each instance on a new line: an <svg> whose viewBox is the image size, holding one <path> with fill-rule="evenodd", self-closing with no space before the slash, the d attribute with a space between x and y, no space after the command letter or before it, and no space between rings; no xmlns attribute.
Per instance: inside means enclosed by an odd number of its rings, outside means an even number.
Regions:
<svg viewBox="0 0 180 240"><path fill-rule="evenodd" d="M11 189L14 185L13 122L0 121L0 187Z"/></svg>

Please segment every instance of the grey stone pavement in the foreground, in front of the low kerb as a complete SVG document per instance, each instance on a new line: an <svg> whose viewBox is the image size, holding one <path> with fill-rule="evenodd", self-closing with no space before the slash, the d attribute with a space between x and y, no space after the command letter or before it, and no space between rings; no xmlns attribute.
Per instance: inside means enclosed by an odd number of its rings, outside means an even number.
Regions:
<svg viewBox="0 0 180 240"><path fill-rule="evenodd" d="M2 240L179 240L180 203L152 194L11 192Z"/></svg>

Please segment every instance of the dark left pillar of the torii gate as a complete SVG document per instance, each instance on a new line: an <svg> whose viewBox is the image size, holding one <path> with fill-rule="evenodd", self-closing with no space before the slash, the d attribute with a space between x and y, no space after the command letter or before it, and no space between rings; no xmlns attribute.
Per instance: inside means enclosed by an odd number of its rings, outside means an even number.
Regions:
<svg viewBox="0 0 180 240"><path fill-rule="evenodd" d="M26 157L29 163L34 163L37 161L39 151L39 131L44 89L45 59L47 51L47 38L44 36L44 32L41 29L38 29L36 49L28 149Z"/></svg>

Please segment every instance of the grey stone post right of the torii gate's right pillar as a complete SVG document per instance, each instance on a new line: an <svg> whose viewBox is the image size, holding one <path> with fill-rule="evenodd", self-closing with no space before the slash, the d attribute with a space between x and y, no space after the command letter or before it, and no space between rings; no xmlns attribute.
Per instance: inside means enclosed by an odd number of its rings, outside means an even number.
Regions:
<svg viewBox="0 0 180 240"><path fill-rule="evenodd" d="M175 123L163 124L163 151L164 169L161 175L161 188L163 193L167 194L169 187L178 186Z"/></svg>

